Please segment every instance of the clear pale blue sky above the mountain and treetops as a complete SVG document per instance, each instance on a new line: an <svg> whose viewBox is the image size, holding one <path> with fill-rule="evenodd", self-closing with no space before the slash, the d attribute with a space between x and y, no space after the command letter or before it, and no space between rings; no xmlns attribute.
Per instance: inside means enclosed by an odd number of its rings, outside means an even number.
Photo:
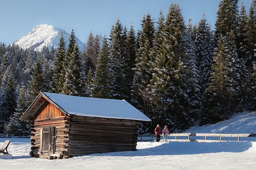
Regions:
<svg viewBox="0 0 256 170"><path fill-rule="evenodd" d="M187 18L197 22L205 12L214 28L219 0L0 0L0 41L10 44L34 26L48 24L68 33L74 28L85 42L90 30L108 34L117 17L128 26L132 22L137 31L143 14L149 12L157 21L159 9L166 14L169 4L176 2L186 23ZM248 10L250 0L244 3Z"/></svg>

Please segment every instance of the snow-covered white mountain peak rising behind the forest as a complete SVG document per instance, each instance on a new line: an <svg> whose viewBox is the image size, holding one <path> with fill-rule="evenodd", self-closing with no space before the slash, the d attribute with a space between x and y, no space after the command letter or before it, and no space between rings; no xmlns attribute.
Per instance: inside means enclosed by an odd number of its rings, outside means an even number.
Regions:
<svg viewBox="0 0 256 170"><path fill-rule="evenodd" d="M35 26L31 31L29 31L28 34L22 36L14 43L23 49L32 48L36 51L41 51L44 46L47 46L49 49L51 49L58 47L61 32L63 33L66 45L69 44L69 33L66 33L66 31L61 28L47 24ZM84 44L78 38L76 40L79 50L83 50Z"/></svg>

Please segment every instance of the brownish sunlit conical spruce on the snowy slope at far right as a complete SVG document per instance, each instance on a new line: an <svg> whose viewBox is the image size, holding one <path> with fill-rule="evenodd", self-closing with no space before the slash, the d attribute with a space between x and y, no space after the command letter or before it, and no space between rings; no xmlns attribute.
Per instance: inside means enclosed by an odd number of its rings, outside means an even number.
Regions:
<svg viewBox="0 0 256 170"><path fill-rule="evenodd" d="M220 35L215 49L209 87L204 94L201 124L212 124L230 116L232 73L230 50L225 36Z"/></svg>

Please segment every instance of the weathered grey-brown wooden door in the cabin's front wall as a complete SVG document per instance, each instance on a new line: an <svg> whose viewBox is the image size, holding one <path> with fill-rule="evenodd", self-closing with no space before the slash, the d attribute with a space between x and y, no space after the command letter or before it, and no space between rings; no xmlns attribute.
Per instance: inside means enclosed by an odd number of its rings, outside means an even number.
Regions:
<svg viewBox="0 0 256 170"><path fill-rule="evenodd" d="M42 129L41 136L41 150L42 156L50 156L55 153L55 138L56 128L55 127L44 127Z"/></svg>

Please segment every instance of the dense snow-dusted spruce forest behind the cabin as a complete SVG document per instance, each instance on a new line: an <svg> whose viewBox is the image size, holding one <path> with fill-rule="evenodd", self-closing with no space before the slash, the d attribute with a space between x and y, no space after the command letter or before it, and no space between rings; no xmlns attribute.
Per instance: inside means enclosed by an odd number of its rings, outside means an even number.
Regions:
<svg viewBox="0 0 256 170"><path fill-rule="evenodd" d="M256 0L249 11L221 0L214 30L204 14L185 25L172 3L159 18L143 15L137 32L117 18L109 35L90 32L85 46L79 51L74 30L40 52L0 43L0 133L29 135L19 118L40 91L127 100L152 120L140 133L156 124L182 132L254 109Z"/></svg>

